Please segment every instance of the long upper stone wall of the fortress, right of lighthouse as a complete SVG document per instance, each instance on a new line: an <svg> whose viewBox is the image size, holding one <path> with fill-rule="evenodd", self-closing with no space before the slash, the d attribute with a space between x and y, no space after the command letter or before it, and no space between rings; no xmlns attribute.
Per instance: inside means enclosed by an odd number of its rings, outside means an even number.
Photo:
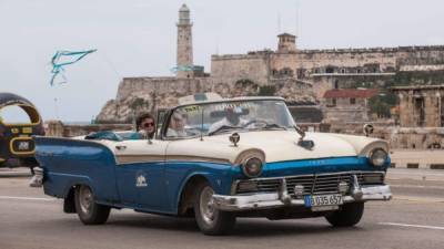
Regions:
<svg viewBox="0 0 444 249"><path fill-rule="evenodd" d="M398 65L444 64L444 46L400 46L374 49L334 49L334 50L300 50L289 53L270 53L270 69L290 68L306 69L314 73L316 68L360 68L366 64L379 65L380 72L394 71ZM254 59L261 58L266 65L266 53L250 52L249 54L213 55L212 76L226 76L245 66L254 68ZM221 63L223 61L223 63ZM239 63L242 64L239 68ZM231 68L230 68L231 66ZM320 72L325 73L325 72ZM238 73L239 74L239 73Z"/></svg>

